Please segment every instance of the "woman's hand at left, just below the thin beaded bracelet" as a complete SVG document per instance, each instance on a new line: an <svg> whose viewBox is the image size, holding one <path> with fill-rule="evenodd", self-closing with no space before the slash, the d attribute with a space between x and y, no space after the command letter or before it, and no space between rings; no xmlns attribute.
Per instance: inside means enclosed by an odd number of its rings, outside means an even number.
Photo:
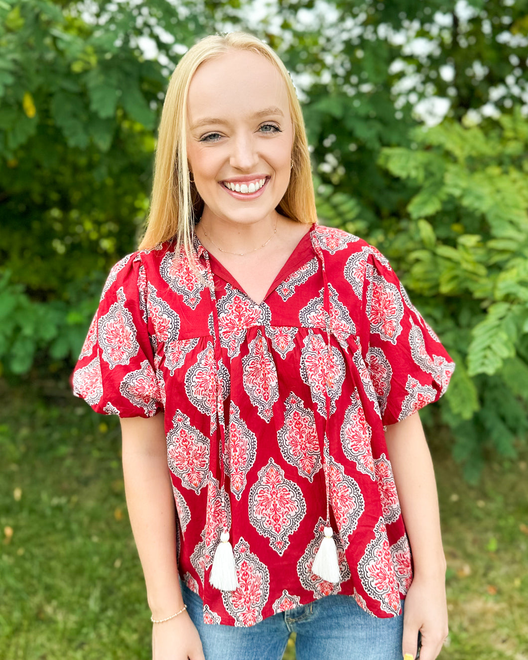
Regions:
<svg viewBox="0 0 528 660"><path fill-rule="evenodd" d="M195 624L187 612L152 626L152 660L205 660Z"/></svg>

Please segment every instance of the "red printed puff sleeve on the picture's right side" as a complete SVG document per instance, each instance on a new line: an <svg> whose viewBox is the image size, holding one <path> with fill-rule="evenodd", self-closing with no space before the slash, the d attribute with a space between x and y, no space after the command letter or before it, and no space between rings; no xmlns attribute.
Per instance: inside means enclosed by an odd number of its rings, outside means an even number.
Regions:
<svg viewBox="0 0 528 660"><path fill-rule="evenodd" d="M363 302L370 323L367 362L381 420L395 424L440 399L455 363L378 250L368 257Z"/></svg>

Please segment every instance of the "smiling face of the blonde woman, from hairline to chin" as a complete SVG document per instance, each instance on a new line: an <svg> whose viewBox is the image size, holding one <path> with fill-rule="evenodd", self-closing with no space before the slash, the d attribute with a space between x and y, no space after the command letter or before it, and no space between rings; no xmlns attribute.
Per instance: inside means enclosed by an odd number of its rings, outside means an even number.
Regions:
<svg viewBox="0 0 528 660"><path fill-rule="evenodd" d="M271 220L290 180L293 128L281 75L263 55L200 65L187 101L187 158L211 220Z"/></svg>

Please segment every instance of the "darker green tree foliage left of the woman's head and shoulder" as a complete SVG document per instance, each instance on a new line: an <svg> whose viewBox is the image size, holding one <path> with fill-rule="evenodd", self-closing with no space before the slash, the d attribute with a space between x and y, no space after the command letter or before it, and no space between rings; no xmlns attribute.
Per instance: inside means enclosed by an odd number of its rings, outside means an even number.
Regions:
<svg viewBox="0 0 528 660"><path fill-rule="evenodd" d="M75 3L0 3L0 273L27 317L20 336L18 320L0 329L7 372L42 351L76 358L104 276L135 248L168 82L139 55L138 16L121 3L100 30ZM193 42L191 24L172 26L176 42Z"/></svg>

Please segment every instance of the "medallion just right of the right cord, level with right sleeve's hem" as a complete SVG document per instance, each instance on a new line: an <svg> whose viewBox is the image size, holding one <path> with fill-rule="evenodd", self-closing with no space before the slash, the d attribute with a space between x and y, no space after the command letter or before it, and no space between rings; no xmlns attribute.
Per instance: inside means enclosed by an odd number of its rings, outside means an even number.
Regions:
<svg viewBox="0 0 528 660"><path fill-rule="evenodd" d="M345 412L341 426L341 446L345 456L356 464L359 472L368 475L372 480L374 475L374 457L372 456L372 428L368 424L365 411L361 405L357 389L350 397L352 404Z"/></svg>

